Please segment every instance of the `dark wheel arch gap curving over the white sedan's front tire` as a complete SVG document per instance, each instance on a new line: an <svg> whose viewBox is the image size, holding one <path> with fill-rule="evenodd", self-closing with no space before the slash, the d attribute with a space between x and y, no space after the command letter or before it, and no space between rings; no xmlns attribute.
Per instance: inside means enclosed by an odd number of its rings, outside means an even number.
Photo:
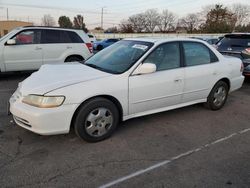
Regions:
<svg viewBox="0 0 250 188"><path fill-rule="evenodd" d="M122 117L123 117L123 108L121 103L119 102L118 99L116 99L115 97L111 96L111 95L97 95L97 96L93 96L91 98L86 99L85 101L83 101L75 110L72 119L71 119L71 123L70 123L70 128L73 127L74 121L75 121L75 117L77 115L77 113L79 112L79 110L90 100L93 100L95 98L104 98L107 99L109 101L111 101L112 103L114 103L114 105L116 106L118 113L119 113L119 121L122 121Z"/></svg>

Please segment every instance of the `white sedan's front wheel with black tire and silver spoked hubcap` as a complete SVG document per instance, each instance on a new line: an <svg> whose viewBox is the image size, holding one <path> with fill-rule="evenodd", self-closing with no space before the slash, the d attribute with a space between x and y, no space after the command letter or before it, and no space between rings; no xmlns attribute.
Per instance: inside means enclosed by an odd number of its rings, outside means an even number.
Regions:
<svg viewBox="0 0 250 188"><path fill-rule="evenodd" d="M119 122L116 106L105 98L95 98L80 107L74 121L76 134L87 142L99 142L112 135Z"/></svg>

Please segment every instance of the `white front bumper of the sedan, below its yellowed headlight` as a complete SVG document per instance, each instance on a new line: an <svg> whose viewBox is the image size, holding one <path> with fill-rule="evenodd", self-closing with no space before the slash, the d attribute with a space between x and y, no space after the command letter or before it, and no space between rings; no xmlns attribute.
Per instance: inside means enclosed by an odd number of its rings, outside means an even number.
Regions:
<svg viewBox="0 0 250 188"><path fill-rule="evenodd" d="M37 108L10 99L10 112L16 124L40 135L68 133L76 108L76 104Z"/></svg>

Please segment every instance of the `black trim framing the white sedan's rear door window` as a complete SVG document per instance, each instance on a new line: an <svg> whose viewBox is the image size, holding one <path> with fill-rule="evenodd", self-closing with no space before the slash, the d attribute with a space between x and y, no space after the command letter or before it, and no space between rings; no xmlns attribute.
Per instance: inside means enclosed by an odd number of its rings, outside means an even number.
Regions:
<svg viewBox="0 0 250 188"><path fill-rule="evenodd" d="M184 50L184 45L183 45L184 43L197 43L197 44L201 44L204 47L206 47L208 49L208 51L209 51L210 63L188 66L186 64L185 50ZM202 42L198 42L198 41L181 41L181 48L182 48L182 58L183 58L183 66L184 67L195 67L195 66L209 65L209 64L212 64L212 63L219 62L219 58L217 57L217 55L207 45L203 44ZM216 57L216 61L212 61L212 56Z"/></svg>

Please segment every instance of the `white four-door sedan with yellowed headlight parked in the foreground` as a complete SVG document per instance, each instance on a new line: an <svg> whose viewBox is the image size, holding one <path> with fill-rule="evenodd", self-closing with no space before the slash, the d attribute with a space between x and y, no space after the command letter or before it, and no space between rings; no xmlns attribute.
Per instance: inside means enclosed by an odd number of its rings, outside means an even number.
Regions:
<svg viewBox="0 0 250 188"><path fill-rule="evenodd" d="M41 135L103 140L120 121L196 103L212 110L242 86L239 59L195 39L126 39L85 64L44 65L19 84L10 111Z"/></svg>

